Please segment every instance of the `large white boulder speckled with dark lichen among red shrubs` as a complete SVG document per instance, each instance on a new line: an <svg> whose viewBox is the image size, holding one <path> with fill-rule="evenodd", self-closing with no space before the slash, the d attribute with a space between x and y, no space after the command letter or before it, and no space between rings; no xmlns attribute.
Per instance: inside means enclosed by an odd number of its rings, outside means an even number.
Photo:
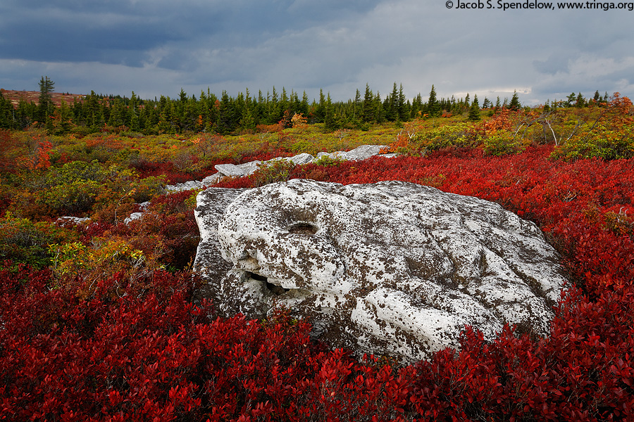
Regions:
<svg viewBox="0 0 634 422"><path fill-rule="evenodd" d="M287 305L333 347L406 362L458 347L465 325L489 339L506 322L548 333L557 254L495 203L400 181L231 191L201 192L197 206L196 265L214 268L225 312ZM220 255L231 264L216 267Z"/></svg>

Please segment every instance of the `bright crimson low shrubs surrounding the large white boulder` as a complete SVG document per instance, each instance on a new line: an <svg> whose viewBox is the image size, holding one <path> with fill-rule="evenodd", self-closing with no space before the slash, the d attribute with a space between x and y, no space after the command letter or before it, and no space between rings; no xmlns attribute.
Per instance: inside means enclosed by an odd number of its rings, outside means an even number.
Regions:
<svg viewBox="0 0 634 422"><path fill-rule="evenodd" d="M293 177L404 180L494 200L540 225L571 288L549 338L467 329L460 352L397 370L309 340L306 321L210 320L183 279L86 302L46 271L0 270L0 416L39 420L634 420L631 160L548 160L551 147L304 165ZM251 179L235 184L247 186ZM185 194L183 194L185 195ZM163 200L163 199L161 199ZM161 202L156 207L160 207ZM164 198L176 204L184 198ZM174 205L174 204L172 204ZM157 208L158 209L158 208ZM104 281L107 285L108 281ZM143 283L147 286L147 283Z"/></svg>

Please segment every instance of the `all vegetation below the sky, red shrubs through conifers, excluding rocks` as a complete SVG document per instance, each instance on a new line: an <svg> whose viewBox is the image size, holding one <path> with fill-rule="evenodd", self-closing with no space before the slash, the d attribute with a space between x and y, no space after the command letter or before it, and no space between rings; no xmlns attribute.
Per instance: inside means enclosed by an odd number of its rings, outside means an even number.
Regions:
<svg viewBox="0 0 634 422"><path fill-rule="evenodd" d="M0 418L7 421L609 421L634 418L633 108L279 94L72 105L0 94ZM473 104L477 106L473 106ZM480 107L482 104L482 107ZM261 167L215 186L403 180L535 222L571 285L547 338L466 327L399 366L309 338L285 310L214 316L194 293L197 191L220 163L385 145L396 158ZM142 217L128 219L133 212ZM61 216L87 220L58 220ZM128 220L126 220L128 219Z"/></svg>

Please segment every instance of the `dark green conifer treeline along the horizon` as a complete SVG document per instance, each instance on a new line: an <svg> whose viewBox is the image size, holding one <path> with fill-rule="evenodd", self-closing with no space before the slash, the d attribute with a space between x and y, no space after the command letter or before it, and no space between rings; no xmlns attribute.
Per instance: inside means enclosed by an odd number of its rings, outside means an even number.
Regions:
<svg viewBox="0 0 634 422"><path fill-rule="evenodd" d="M50 100L53 87L54 83L48 77L42 77L39 82L39 103L20 101L17 108L0 94L0 128L25 129L37 124L56 134L86 134L114 128L143 134L230 134L252 131L259 125L281 124L282 127L289 127L292 117L301 114L307 122L323 123L324 130L332 132L337 129L368 129L371 124L404 122L417 116L466 113L478 104L477 96L471 102L469 94L459 99L454 96L437 99L433 85L428 101L423 102L421 94L410 101L403 93L402 84L397 87L394 82L392 92L385 98L366 84L363 96L357 89L354 99L348 101L332 101L330 93L324 95L320 90L318 101L313 99L309 103L305 91L300 98L295 91L289 94L282 88L280 93L273 87L273 91L266 95L259 91L256 96L252 96L247 89L246 94L241 92L235 98L226 91L218 98L209 89L201 91L197 98L188 96L181 89L178 98L161 96L154 100L142 100L134 91L130 98L98 95L92 91L83 101L62 103L60 107L55 107ZM598 92L595 96L598 96ZM581 98L583 101L583 96ZM573 99L580 103L578 98ZM520 106L517 94L514 94L510 103L506 98L504 103L500 102L499 97L496 103L485 98L481 107Z"/></svg>

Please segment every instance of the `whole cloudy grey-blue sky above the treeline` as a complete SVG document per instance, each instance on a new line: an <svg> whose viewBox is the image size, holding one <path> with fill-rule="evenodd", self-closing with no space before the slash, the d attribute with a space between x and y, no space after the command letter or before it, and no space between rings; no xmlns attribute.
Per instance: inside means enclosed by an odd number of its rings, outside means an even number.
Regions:
<svg viewBox="0 0 634 422"><path fill-rule="evenodd" d="M432 84L480 101L514 90L524 104L597 89L634 98L632 3L445 1L1 0L0 87L37 90L46 75L58 92L142 98L285 87L347 100L366 83L385 97L394 82L409 98Z"/></svg>

